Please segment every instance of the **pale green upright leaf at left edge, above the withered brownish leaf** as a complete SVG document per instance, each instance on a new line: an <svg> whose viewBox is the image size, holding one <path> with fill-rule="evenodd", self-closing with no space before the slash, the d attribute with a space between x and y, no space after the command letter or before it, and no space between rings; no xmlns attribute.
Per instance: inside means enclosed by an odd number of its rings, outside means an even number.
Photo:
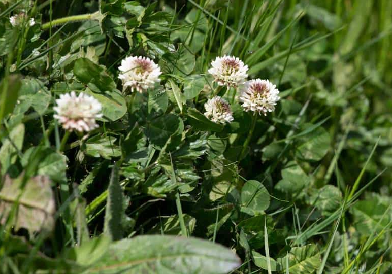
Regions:
<svg viewBox="0 0 392 274"><path fill-rule="evenodd" d="M12 143L10 142L12 141ZM21 151L24 140L24 124L15 126L8 138L2 140L2 147L0 148L0 173L5 174L8 167L14 164L18 155L18 150ZM14 147L16 146L16 148Z"/></svg>

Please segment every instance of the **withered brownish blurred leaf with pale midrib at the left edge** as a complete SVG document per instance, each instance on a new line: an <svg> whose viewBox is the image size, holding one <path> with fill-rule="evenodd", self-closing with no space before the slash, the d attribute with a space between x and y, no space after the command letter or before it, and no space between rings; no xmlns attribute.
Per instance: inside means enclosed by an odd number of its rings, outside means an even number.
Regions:
<svg viewBox="0 0 392 274"><path fill-rule="evenodd" d="M5 176L0 190L0 223L9 223L15 230L26 228L51 231L54 227L55 200L51 181L46 176L36 176L24 182L23 174L16 179ZM17 205L15 206L15 203Z"/></svg>

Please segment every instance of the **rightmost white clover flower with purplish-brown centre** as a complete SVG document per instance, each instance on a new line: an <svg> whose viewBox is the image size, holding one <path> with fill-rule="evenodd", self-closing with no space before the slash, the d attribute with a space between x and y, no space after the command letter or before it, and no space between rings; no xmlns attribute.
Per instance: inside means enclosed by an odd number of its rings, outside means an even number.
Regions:
<svg viewBox="0 0 392 274"><path fill-rule="evenodd" d="M275 110L279 101L279 90L268 80L250 80L241 88L240 101L245 111L258 112L267 115Z"/></svg>

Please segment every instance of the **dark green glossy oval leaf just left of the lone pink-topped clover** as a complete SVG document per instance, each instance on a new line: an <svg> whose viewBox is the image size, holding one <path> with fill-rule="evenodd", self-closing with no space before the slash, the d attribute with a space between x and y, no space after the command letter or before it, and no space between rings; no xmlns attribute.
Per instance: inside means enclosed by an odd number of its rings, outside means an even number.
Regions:
<svg viewBox="0 0 392 274"><path fill-rule="evenodd" d="M116 83L106 73L105 69L87 58L79 58L74 64L74 75L83 84L91 89L100 91L112 91L116 89Z"/></svg>

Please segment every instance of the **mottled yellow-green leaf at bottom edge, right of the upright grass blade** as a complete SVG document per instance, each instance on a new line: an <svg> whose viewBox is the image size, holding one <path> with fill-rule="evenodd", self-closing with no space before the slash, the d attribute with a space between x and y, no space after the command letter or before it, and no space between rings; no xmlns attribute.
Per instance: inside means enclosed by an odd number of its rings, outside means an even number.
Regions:
<svg viewBox="0 0 392 274"><path fill-rule="evenodd" d="M314 244L309 244L303 247L291 248L287 255L288 258L288 272L290 274L312 274L321 265L321 255L318 248ZM286 256L278 258L283 271L286 270Z"/></svg>

